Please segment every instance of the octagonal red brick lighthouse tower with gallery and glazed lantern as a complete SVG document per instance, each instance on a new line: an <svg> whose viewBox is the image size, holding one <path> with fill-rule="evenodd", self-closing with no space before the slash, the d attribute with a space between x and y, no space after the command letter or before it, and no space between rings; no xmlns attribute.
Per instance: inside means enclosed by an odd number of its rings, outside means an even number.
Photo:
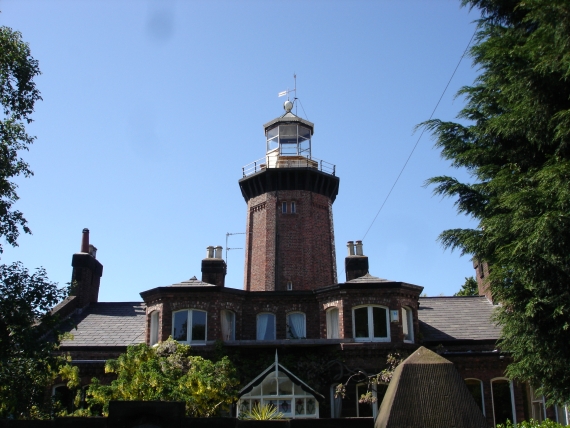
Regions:
<svg viewBox="0 0 570 428"><path fill-rule="evenodd" d="M247 202L244 289L313 290L335 284L335 166L311 152L314 124L291 112L263 125L266 154L244 167Z"/></svg>

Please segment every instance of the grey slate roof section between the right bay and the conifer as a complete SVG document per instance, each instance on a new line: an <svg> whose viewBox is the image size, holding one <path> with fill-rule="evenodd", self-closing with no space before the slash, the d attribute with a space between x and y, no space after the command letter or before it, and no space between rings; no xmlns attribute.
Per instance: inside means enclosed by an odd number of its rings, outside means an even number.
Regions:
<svg viewBox="0 0 570 428"><path fill-rule="evenodd" d="M418 317L425 342L497 340L501 329L485 296L421 297Z"/></svg>

